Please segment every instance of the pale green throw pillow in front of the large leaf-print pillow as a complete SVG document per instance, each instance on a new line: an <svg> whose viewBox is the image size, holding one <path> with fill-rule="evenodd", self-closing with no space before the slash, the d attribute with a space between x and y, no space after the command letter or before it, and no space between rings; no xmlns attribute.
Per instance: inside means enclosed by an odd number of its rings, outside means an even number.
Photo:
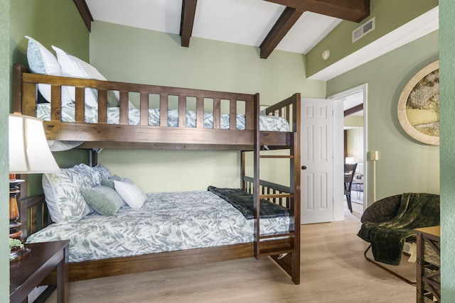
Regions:
<svg viewBox="0 0 455 303"><path fill-rule="evenodd" d="M81 189L80 192L92 209L105 216L115 216L120 207L125 205L122 197L107 186Z"/></svg>

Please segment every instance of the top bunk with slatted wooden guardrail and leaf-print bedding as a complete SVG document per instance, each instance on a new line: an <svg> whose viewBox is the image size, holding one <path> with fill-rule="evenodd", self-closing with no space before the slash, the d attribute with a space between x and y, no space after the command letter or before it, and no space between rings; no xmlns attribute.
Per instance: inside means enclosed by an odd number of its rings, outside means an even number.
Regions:
<svg viewBox="0 0 455 303"><path fill-rule="evenodd" d="M287 149L299 101L294 94L261 111L259 94L38 75L14 65L13 111L42 119L48 140L77 148Z"/></svg>

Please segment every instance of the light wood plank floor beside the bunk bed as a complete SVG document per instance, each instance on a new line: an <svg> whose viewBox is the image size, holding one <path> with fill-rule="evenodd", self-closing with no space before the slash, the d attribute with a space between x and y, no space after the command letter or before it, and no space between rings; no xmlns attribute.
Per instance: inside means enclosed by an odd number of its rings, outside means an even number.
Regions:
<svg viewBox="0 0 455 303"><path fill-rule="evenodd" d="M363 257L363 206L353 208L345 221L301 226L300 285L268 258L245 259L72 282L70 302L415 302L415 287ZM400 269L415 275L414 264Z"/></svg>

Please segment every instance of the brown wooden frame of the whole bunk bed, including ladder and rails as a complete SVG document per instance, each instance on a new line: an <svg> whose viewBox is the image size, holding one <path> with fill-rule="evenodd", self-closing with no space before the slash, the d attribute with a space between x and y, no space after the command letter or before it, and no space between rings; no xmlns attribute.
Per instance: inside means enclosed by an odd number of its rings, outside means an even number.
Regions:
<svg viewBox="0 0 455 303"><path fill-rule="evenodd" d="M270 256L287 274L292 282L300 282L300 152L299 119L300 94L280 101L264 110L266 116L281 116L289 122L288 131L261 131L259 126L259 94L237 94L198 89L161 87L148 84L109 82L96 79L79 79L38 75L28 72L23 65L14 65L13 110L28 116L37 116L38 84L50 84L50 112L44 120L45 134L50 141L74 142L77 148L87 149L90 165L97 165L96 150L102 148L137 149L180 149L180 150L239 150L241 152L240 189L252 195L254 201L254 241L210 248L176 250L163 253L148 253L122 258L104 258L70 263L70 281L109 277L134 272L146 272L186 265L213 263L239 258L264 258ZM63 105L60 102L64 87L75 88L75 102L72 121L62 118ZM97 123L87 123L85 89L96 89L98 97ZM118 121L108 123L108 94L116 91L119 95ZM139 94L140 121L131 125L129 121L129 96ZM159 99L159 125L150 125L149 98ZM178 125L169 127L168 99L178 100L176 113ZM194 127L187 127L190 111L188 99L196 100ZM223 102L228 102L228 129L222 128ZM204 113L210 103L212 124L204 126ZM220 118L221 117L221 118ZM242 127L236 123L239 117L245 119ZM267 150L289 150L286 155L271 155ZM245 153L253 153L253 176L245 175ZM275 184L259 178L261 158L289 159L289 184ZM23 176L25 177L25 176ZM25 184L26 186L26 184ZM21 228L23 237L31 235L50 224L48 209L43 195L26 197L21 191ZM262 235L259 233L261 199L284 206L289 210L289 230L285 233ZM44 284L55 281L55 272Z"/></svg>

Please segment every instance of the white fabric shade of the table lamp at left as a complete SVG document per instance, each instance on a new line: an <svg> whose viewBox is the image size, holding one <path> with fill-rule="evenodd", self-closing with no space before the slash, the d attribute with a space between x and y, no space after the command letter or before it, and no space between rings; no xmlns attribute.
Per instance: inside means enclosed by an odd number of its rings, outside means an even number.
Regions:
<svg viewBox="0 0 455 303"><path fill-rule="evenodd" d="M43 121L9 115L9 172L33 174L60 172L45 138Z"/></svg>

